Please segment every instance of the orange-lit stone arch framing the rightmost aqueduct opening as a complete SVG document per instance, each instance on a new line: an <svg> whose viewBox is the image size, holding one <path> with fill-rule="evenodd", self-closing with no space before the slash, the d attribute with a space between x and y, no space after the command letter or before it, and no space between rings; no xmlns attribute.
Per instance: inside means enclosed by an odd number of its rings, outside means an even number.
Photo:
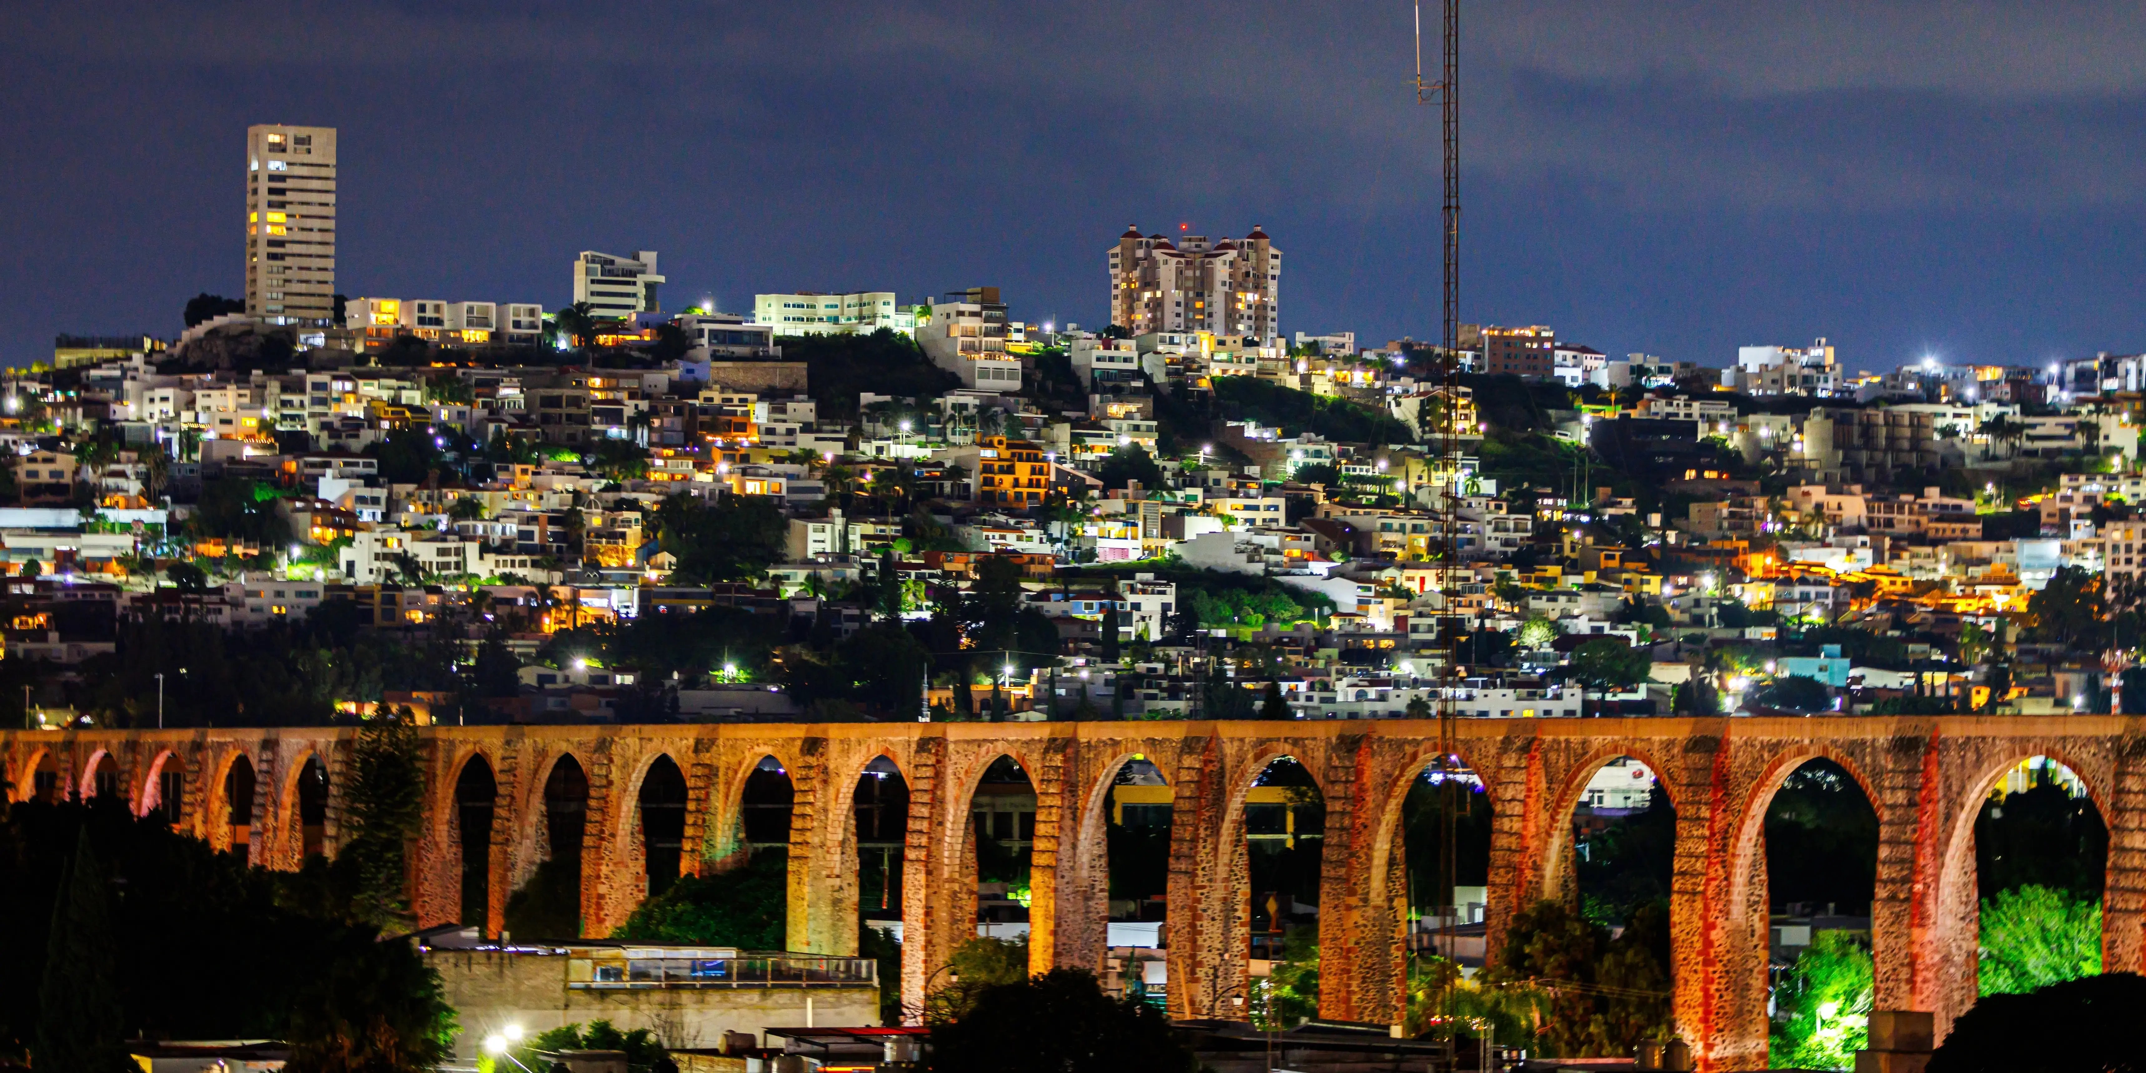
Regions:
<svg viewBox="0 0 2146 1073"><path fill-rule="evenodd" d="M2094 781L2092 766L2079 762L2077 753L2064 749L2058 743L2028 740L2024 745L2007 745L1998 751L1976 758L1974 773L1966 779L1966 792L1955 803L1955 813L1944 820L1944 858L1938 867L1938 918L1946 927L1957 929L1957 942L1938 942L1936 957L1938 966L1938 1039L1942 1041L1951 1032L1953 1019L1968 1011L1979 998L1981 961L1976 951L1981 946L1981 865L1976 863L1974 846L1974 822L1983 813L1983 800L1996 790L1998 781L2004 779L2015 766L2032 758L2049 758L2064 768L2069 768L2079 785L2086 788L2086 800L2094 805L2101 813L2103 824L2110 824L2114 815L2110 811L2107 788ZM2112 848L2114 848L2114 824L2110 824ZM2101 873L2101 903L2103 903L2103 925L2101 925L2101 949L2103 957L2110 951L2110 869Z"/></svg>

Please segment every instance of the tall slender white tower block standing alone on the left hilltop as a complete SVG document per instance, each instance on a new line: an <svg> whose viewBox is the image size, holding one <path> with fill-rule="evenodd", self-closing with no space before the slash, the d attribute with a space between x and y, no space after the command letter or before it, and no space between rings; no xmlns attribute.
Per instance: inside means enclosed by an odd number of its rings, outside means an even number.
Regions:
<svg viewBox="0 0 2146 1073"><path fill-rule="evenodd" d="M247 127L247 315L335 320L335 127Z"/></svg>

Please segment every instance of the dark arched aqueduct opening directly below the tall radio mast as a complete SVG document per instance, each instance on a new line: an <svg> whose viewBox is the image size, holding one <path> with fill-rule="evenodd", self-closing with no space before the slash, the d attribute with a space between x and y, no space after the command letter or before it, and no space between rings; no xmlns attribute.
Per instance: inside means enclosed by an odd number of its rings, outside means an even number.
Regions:
<svg viewBox="0 0 2146 1073"><path fill-rule="evenodd" d="M1401 798L1408 949L1481 968L1489 910L1491 809L1457 755L1434 758Z"/></svg>

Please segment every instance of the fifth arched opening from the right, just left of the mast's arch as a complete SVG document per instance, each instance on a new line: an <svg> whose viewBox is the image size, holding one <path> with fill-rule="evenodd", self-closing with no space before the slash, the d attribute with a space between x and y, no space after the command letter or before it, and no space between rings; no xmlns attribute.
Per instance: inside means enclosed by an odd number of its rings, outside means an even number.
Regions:
<svg viewBox="0 0 2146 1073"><path fill-rule="evenodd" d="M1245 876L1251 897L1251 957L1288 961L1292 929L1318 942L1320 858L1326 846L1326 796L1296 758L1275 758L1245 792ZM1307 996L1318 1002L1318 996Z"/></svg>

